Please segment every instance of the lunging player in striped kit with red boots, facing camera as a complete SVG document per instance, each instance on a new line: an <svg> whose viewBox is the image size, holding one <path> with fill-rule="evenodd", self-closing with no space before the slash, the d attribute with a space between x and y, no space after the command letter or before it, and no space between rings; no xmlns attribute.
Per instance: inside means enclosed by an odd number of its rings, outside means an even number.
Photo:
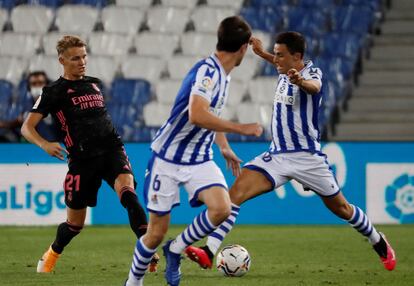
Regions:
<svg viewBox="0 0 414 286"><path fill-rule="evenodd" d="M274 55L263 49L259 39L252 37L250 43L253 51L273 63L279 72L270 149L243 167L229 192L231 214L209 235L207 245L201 248L190 246L185 253L201 267L211 268L213 256L232 229L240 205L295 179L305 190L316 192L328 209L367 237L384 267L393 270L396 265L394 250L367 215L347 202L328 165L327 156L321 152L318 110L322 72L311 61L304 61L304 37L297 32L279 34Z"/></svg>

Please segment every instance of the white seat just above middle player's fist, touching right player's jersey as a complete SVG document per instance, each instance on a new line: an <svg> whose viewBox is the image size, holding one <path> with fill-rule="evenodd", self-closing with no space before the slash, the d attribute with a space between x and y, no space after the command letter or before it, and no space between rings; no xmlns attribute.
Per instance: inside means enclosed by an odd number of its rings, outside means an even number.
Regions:
<svg viewBox="0 0 414 286"><path fill-rule="evenodd" d="M240 123L258 122L262 126L270 126L272 108L270 104L244 102L237 106L237 118Z"/></svg>

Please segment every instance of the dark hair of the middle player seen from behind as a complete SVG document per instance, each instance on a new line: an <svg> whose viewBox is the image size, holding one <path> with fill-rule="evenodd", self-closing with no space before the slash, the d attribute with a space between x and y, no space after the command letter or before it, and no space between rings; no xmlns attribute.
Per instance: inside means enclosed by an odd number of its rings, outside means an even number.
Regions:
<svg viewBox="0 0 414 286"><path fill-rule="evenodd" d="M218 51L237 52L240 47L249 42L252 30L240 16L231 16L221 21L217 31Z"/></svg>

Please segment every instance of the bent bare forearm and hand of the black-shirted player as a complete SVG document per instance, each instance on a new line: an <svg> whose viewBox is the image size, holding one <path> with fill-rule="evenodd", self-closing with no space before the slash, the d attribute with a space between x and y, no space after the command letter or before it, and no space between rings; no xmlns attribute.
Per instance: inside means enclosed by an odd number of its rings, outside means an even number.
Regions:
<svg viewBox="0 0 414 286"><path fill-rule="evenodd" d="M56 157L62 161L65 160L63 153L69 154L68 151L60 146L58 142L47 141L36 131L36 126L42 119L43 115L41 113L29 113L29 116L27 116L22 125L22 135L24 138L26 138L27 141L36 144L50 156Z"/></svg>

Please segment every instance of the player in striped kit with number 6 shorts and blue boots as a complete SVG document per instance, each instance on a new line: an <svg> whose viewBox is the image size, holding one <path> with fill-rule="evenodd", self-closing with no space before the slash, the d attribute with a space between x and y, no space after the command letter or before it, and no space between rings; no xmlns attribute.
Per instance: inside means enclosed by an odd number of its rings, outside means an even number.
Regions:
<svg viewBox="0 0 414 286"><path fill-rule="evenodd" d="M249 25L238 16L224 19L217 33L216 52L196 63L184 78L170 118L156 134L144 185L150 213L148 231L137 241L125 285L143 285L147 265L162 242L171 209L180 203L179 188L184 186L190 204L207 209L174 240L163 246L168 285L179 285L181 252L210 234L229 215L230 198L221 170L212 161L215 142L232 168L240 173L240 159L230 148L224 132L260 136L257 123L238 124L223 120L220 114L228 96L230 71L238 66L251 37Z"/></svg>

